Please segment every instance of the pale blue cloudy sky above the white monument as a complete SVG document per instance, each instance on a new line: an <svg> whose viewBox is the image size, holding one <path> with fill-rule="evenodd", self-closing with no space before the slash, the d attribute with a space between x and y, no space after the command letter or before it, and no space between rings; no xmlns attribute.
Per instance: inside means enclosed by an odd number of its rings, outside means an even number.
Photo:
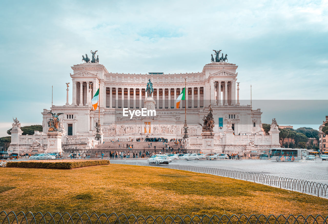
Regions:
<svg viewBox="0 0 328 224"><path fill-rule="evenodd" d="M71 66L90 50L98 50L109 72L142 74L201 72L212 50L222 50L238 65L245 104L252 85L262 123L276 117L281 125L318 129L328 115L328 0L56 0L1 6L0 137L7 136L12 117L22 126L42 123L51 85L53 105L64 105Z"/></svg>

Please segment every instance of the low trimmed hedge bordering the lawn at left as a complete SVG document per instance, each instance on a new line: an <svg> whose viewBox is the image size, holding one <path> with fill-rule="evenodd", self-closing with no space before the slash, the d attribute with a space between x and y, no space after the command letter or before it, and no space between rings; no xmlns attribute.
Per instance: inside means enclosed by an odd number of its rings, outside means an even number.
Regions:
<svg viewBox="0 0 328 224"><path fill-rule="evenodd" d="M67 161L67 162L10 162L6 167L19 168L47 168L47 169L72 169L79 167L90 167L98 165L109 165L109 160L86 160L86 161Z"/></svg>

